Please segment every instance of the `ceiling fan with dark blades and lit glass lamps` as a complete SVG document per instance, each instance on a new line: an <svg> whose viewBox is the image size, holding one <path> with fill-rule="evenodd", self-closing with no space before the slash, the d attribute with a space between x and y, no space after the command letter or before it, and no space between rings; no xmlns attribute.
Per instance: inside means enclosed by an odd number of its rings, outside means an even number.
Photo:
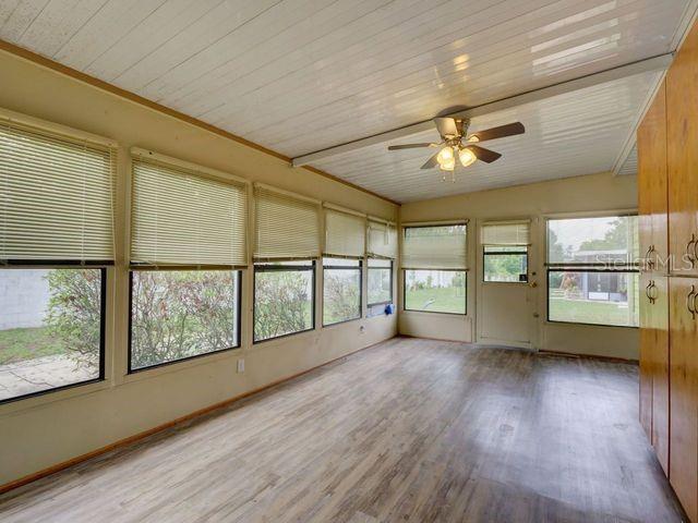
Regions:
<svg viewBox="0 0 698 523"><path fill-rule="evenodd" d="M441 150L434 153L434 155L426 160L422 166L422 169L432 169L438 166L442 171L450 171L453 173L456 169L456 157L458 157L462 167L468 167L476 160L492 163L502 157L500 153L485 149L484 147L480 147L476 144L486 142L488 139L504 138L505 136L524 134L526 131L521 122L515 122L506 125L500 125L498 127L479 131L466 136L468 126L470 125L470 120L468 119L435 118L434 123L436 124L436 129L441 135L441 143L390 145L388 146L388 150L413 149L417 147L441 147Z"/></svg>

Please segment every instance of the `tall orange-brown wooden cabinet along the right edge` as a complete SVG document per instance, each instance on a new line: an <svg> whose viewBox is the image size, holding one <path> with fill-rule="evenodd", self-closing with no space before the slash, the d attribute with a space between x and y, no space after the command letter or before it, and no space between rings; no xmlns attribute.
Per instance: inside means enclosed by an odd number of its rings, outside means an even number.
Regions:
<svg viewBox="0 0 698 523"><path fill-rule="evenodd" d="M638 127L640 423L698 523L698 24ZM669 255L669 256L667 256Z"/></svg>

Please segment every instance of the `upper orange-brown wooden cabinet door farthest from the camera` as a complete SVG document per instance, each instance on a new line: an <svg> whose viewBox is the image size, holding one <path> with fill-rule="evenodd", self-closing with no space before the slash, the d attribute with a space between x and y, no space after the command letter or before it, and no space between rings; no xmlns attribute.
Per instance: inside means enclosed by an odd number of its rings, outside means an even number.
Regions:
<svg viewBox="0 0 698 523"><path fill-rule="evenodd" d="M640 256L645 269L666 272L666 83L662 82L637 131Z"/></svg>

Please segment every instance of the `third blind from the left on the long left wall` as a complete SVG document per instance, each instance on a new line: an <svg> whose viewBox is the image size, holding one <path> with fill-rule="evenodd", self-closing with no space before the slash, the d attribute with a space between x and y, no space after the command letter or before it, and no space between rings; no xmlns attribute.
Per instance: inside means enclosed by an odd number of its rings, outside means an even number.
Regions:
<svg viewBox="0 0 698 523"><path fill-rule="evenodd" d="M320 257L320 203L255 185L255 259Z"/></svg>

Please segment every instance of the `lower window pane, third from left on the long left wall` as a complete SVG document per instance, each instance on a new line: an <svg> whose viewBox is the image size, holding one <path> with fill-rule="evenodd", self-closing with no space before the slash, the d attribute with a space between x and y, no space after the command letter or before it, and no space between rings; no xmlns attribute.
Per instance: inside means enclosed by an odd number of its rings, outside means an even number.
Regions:
<svg viewBox="0 0 698 523"><path fill-rule="evenodd" d="M254 266L254 342L315 328L315 263Z"/></svg>

